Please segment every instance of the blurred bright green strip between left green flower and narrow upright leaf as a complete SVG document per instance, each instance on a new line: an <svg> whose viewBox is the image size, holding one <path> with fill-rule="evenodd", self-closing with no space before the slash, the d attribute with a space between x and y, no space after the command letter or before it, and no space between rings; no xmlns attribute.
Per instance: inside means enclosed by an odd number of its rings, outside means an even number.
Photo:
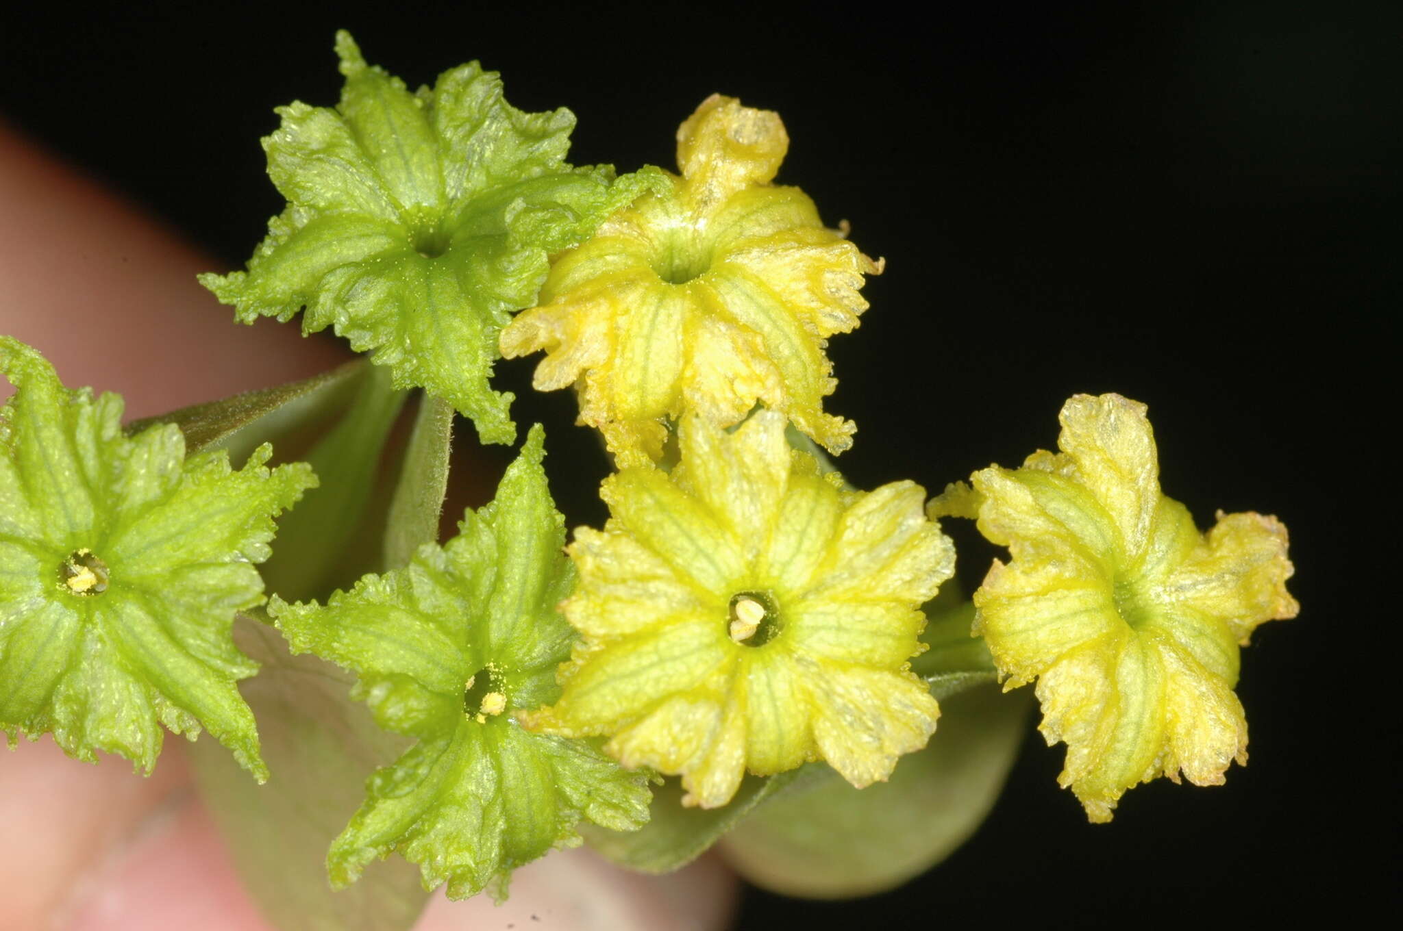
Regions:
<svg viewBox="0 0 1403 931"><path fill-rule="evenodd" d="M391 387L384 369L372 367L355 401L307 454L321 487L282 523L278 557L264 566L268 589L283 599L313 597L349 585L362 566L351 544L380 475L380 453L405 391Z"/></svg>

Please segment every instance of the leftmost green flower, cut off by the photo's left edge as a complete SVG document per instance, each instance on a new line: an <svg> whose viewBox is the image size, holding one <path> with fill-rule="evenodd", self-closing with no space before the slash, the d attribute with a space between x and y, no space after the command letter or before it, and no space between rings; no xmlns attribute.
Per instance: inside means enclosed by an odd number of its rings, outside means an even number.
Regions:
<svg viewBox="0 0 1403 931"><path fill-rule="evenodd" d="M269 471L267 444L239 471L222 450L187 458L171 425L129 437L118 395L66 390L8 337L0 374L17 388L0 408L0 729L150 773L161 725L205 728L265 780L236 684L257 665L230 627L262 602L253 564L311 470Z"/></svg>

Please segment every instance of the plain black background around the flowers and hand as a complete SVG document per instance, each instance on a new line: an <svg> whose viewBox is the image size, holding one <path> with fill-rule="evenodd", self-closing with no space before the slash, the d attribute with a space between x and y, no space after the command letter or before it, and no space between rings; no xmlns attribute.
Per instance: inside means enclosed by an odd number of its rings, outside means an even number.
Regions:
<svg viewBox="0 0 1403 931"><path fill-rule="evenodd" d="M752 890L738 927L1345 917L1393 888L1395 729L1372 683L1396 674L1399 621L1369 600L1397 576L1378 451L1397 418L1375 391L1396 355L1399 4L396 6L11 8L0 116L233 266L282 205L257 144L271 108L337 100L337 27L411 84L478 57L516 107L571 107L578 164L672 167L676 123L738 95L786 121L780 181L888 259L832 344L856 484L1013 464L1054 443L1065 397L1118 391L1149 402L1163 485L1200 523L1254 509L1292 530L1303 610L1244 653L1251 766L1226 787L1162 780L1090 826L1030 733L933 872L853 903ZM533 365L498 384L547 423L563 508L598 523L605 463L568 393L528 390ZM976 579L989 552L962 552Z"/></svg>

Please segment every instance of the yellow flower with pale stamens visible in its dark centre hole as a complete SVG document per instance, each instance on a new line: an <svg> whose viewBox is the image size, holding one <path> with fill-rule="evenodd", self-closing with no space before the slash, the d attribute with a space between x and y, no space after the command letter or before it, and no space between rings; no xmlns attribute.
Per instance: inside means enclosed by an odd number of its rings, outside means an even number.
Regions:
<svg viewBox="0 0 1403 931"><path fill-rule="evenodd" d="M528 726L609 735L624 766L680 774L703 808L745 771L810 760L856 787L885 780L940 714L908 663L919 606L954 569L925 492L842 491L773 411L734 433L686 418L679 442L671 474L609 477L605 530L575 531L561 610L584 642Z"/></svg>

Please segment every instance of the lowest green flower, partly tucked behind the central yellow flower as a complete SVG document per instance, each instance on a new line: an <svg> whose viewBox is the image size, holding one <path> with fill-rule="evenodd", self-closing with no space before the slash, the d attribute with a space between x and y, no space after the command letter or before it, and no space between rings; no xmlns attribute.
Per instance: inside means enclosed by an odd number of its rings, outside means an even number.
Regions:
<svg viewBox="0 0 1403 931"><path fill-rule="evenodd" d="M446 545L427 544L404 569L368 575L323 607L271 613L295 652L359 673L352 693L382 728L417 738L366 784L366 801L333 843L331 881L345 886L391 851L419 864L424 885L453 899L491 885L551 847L579 843L591 820L630 830L650 792L593 746L523 730L521 709L558 694L556 666L574 631L556 613L574 572L564 519L533 428L497 499L469 510Z"/></svg>

